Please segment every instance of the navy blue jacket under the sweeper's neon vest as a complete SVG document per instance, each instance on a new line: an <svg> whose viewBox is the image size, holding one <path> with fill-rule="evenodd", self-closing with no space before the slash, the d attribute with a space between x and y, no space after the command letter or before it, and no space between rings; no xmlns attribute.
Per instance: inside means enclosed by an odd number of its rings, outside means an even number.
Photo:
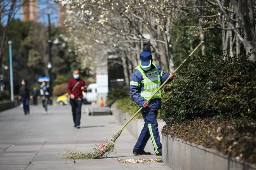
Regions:
<svg viewBox="0 0 256 170"><path fill-rule="evenodd" d="M154 68L155 68L155 66L153 64L151 64L151 68L148 71L151 71ZM162 84L169 77L170 73L165 74L164 70L161 69L161 67L157 64L156 64L156 68L157 68L160 75L161 75L161 72L163 71L163 74L161 76L161 84ZM140 107L142 107L143 104L147 101L145 98L140 96L140 92L143 91L143 86L144 86L143 83L141 84L141 80L143 80L142 74L140 73L140 71L138 69L135 69L132 73L131 81L138 82L140 84L140 86L130 84L130 93L131 93L131 96L132 96L133 100ZM148 104L149 104L149 107L143 108L141 110L142 112L159 110L161 108L161 99L160 98L151 99L148 102Z"/></svg>

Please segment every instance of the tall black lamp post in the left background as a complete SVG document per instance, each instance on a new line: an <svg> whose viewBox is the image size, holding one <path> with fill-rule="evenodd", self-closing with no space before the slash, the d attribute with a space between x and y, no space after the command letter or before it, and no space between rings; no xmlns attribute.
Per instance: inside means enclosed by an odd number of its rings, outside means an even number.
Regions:
<svg viewBox="0 0 256 170"><path fill-rule="evenodd" d="M49 78L50 78L50 96L52 96L52 40L51 40L51 18L50 14L48 13L48 30L49 30L49 39L48 39L48 44L49 44L49 62L48 62L48 73L49 73ZM50 100L50 104L52 105L52 100Z"/></svg>

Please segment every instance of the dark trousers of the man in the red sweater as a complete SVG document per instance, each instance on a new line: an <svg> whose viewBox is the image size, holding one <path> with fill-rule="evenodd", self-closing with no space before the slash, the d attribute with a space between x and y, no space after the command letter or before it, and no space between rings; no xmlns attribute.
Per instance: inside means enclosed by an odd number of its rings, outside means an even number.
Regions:
<svg viewBox="0 0 256 170"><path fill-rule="evenodd" d="M81 108L83 105L83 99L70 99L70 104L72 107L72 115L75 126L80 126L81 120Z"/></svg>

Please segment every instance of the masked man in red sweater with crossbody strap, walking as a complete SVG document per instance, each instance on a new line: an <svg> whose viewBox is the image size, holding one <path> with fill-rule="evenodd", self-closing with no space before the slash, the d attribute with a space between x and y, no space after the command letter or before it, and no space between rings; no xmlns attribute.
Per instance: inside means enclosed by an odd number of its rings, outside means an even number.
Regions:
<svg viewBox="0 0 256 170"><path fill-rule="evenodd" d="M86 92L85 81L79 78L79 70L73 71L73 78L68 81L68 94L72 107L73 121L75 128L80 128L81 107L83 105L83 91Z"/></svg>

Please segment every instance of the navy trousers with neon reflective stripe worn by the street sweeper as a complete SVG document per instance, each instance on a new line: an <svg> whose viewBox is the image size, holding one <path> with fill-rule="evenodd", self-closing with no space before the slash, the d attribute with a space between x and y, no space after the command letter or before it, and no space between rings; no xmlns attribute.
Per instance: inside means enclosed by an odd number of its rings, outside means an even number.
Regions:
<svg viewBox="0 0 256 170"><path fill-rule="evenodd" d="M142 112L144 119L144 127L140 132L137 143L133 148L133 152L144 150L149 137L151 137L154 149L156 153L162 152L162 144L160 142L160 135L158 131L158 124L156 121L157 110Z"/></svg>

